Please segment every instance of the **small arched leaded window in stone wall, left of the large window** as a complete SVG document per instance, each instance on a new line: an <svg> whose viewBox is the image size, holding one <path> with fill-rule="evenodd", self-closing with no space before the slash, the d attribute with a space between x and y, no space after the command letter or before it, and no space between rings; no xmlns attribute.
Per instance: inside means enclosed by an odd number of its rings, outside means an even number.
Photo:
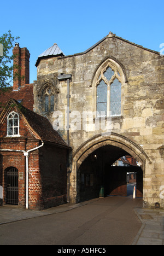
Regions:
<svg viewBox="0 0 164 256"><path fill-rule="evenodd" d="M44 112L54 111L54 90L49 86L44 90Z"/></svg>

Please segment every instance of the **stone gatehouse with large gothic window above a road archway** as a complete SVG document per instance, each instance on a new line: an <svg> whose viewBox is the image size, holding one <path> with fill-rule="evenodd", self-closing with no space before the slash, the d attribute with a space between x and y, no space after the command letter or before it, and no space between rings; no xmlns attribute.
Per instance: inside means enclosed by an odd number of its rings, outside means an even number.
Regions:
<svg viewBox="0 0 164 256"><path fill-rule="evenodd" d="M143 206L164 208L164 57L112 32L83 53L65 56L57 44L38 56L33 111L50 120L72 148L67 198L75 203L125 195L130 155Z"/></svg>

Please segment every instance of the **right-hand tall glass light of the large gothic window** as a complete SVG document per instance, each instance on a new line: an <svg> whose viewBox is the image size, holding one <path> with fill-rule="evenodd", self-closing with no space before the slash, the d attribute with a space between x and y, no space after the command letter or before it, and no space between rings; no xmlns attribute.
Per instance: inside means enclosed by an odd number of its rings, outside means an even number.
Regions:
<svg viewBox="0 0 164 256"><path fill-rule="evenodd" d="M118 79L110 85L110 111L112 115L121 115L121 83Z"/></svg>

